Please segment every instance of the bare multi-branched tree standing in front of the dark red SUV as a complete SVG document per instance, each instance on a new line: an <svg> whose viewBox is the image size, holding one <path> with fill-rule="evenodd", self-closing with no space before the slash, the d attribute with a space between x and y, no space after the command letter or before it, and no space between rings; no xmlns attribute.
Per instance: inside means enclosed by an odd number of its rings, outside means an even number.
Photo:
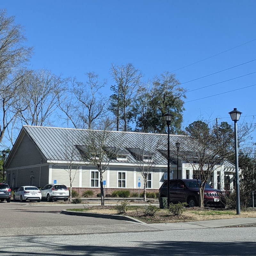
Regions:
<svg viewBox="0 0 256 256"><path fill-rule="evenodd" d="M216 127L201 120L190 124L186 130L190 135L187 140L191 151L182 150L181 144L179 156L192 166L199 186L200 207L204 207L204 188L210 175L219 170L220 165L234 154L234 132L225 131L216 136ZM243 124L240 131L238 141L241 145L250 139L251 132L255 131L255 124ZM175 155L175 144L172 151Z"/></svg>

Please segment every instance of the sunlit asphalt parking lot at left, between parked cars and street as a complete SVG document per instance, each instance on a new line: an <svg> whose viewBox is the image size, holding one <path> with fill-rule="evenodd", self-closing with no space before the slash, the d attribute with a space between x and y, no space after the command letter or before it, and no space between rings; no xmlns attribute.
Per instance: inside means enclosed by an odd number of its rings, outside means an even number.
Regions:
<svg viewBox="0 0 256 256"><path fill-rule="evenodd" d="M144 231L152 228L121 220L110 220L60 214L68 208L85 205L58 203L0 202L0 236L96 234L122 231Z"/></svg>

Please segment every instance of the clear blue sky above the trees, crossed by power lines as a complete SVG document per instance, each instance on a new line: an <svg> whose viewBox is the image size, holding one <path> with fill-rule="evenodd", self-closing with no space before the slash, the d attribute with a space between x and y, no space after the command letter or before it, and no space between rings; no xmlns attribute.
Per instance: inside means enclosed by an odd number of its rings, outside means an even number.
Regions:
<svg viewBox="0 0 256 256"><path fill-rule="evenodd" d="M94 71L113 84L109 69L132 62L145 80L256 39L255 1L1 1L34 46L30 65L85 79ZM256 59L256 40L176 73L181 83ZM256 61L183 84L193 90L255 72ZM256 74L187 93L185 101L256 84ZM232 121L237 108L251 121L256 86L185 103L184 126L200 115ZM228 118L225 118L228 117ZM242 122L242 120L240 121Z"/></svg>

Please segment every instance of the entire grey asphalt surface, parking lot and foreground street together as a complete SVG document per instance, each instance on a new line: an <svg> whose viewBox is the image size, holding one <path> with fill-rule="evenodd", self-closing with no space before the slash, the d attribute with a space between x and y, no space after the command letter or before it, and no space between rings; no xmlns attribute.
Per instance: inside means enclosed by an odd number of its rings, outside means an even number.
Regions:
<svg viewBox="0 0 256 256"><path fill-rule="evenodd" d="M156 231L59 213L75 207L83 205L0 203L0 255L256 255L255 227Z"/></svg>

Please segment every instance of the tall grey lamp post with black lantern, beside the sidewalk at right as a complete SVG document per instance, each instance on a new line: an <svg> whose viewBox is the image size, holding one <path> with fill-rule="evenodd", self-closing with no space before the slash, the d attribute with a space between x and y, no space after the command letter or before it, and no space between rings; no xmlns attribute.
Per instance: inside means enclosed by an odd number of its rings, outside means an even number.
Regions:
<svg viewBox="0 0 256 256"><path fill-rule="evenodd" d="M234 121L235 125L235 158L236 158L236 215L240 215L240 188L239 188L239 173L238 173L238 151L237 151L237 124L242 112L234 108L233 111L228 113Z"/></svg>

